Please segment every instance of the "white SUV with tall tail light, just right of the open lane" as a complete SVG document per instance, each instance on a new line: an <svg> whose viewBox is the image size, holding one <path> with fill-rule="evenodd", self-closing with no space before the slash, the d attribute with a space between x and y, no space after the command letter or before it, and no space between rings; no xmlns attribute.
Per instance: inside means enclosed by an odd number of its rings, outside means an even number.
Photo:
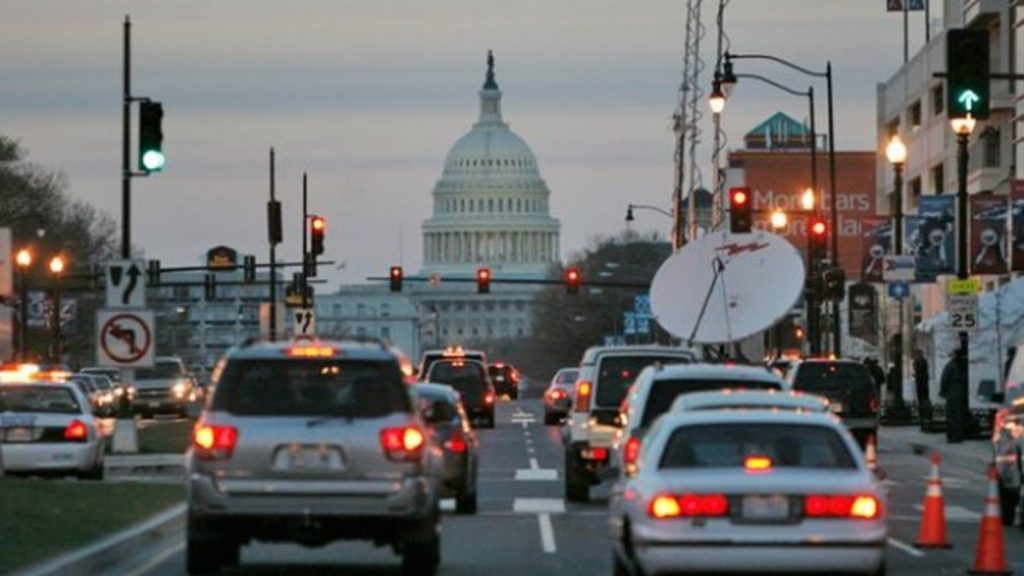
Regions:
<svg viewBox="0 0 1024 576"><path fill-rule="evenodd" d="M592 346L580 362L565 438L565 497L590 498L608 464L611 443L622 425L618 408L626 390L646 366L696 360L693 351L656 345Z"/></svg>

